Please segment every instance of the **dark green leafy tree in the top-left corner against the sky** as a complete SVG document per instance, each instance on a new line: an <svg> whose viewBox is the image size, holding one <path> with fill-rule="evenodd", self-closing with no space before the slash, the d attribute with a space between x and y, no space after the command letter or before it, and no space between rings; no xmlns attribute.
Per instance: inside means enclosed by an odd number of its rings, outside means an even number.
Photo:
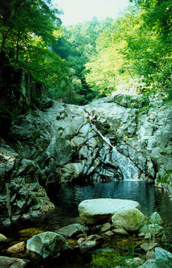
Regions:
<svg viewBox="0 0 172 268"><path fill-rule="evenodd" d="M45 43L54 41L54 30L59 28L58 10L43 0L2 0L0 8L1 52L10 58L28 52L32 34ZM57 27L57 28L56 28Z"/></svg>

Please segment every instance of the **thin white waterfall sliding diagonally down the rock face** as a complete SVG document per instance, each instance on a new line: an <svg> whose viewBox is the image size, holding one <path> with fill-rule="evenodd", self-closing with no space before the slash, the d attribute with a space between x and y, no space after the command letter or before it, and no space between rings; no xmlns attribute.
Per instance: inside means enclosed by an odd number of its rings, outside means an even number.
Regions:
<svg viewBox="0 0 172 268"><path fill-rule="evenodd" d="M111 162L116 163L120 167L120 170L121 170L122 175L123 175L123 180L125 180L125 181L128 181L128 180L129 181L137 181L137 180L139 180L139 173L140 172L139 172L138 167L136 167L136 165L134 165L134 163L129 158L127 158L123 154L120 154L120 152L118 152L116 150L116 147L111 145L109 138L106 138L105 136L103 136L103 134L101 134L98 131L98 129L96 128L94 123L92 123L92 116L90 116L88 113L87 113L87 116L89 118L89 123L90 123L90 125L92 125L94 131L103 139L103 141L105 141L105 143L107 143L107 145L109 145L109 147L111 147L111 149L112 149Z"/></svg>

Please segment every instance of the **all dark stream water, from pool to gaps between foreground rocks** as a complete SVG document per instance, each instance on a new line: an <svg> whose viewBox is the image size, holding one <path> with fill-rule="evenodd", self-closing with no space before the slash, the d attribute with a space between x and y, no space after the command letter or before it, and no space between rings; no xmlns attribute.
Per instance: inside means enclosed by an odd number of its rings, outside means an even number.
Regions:
<svg viewBox="0 0 172 268"><path fill-rule="evenodd" d="M142 213L146 216L157 211L164 221L172 225L172 203L169 197L153 185L145 181L114 181L111 183L89 183L82 185L74 185L73 183L62 184L57 188L52 187L48 190L50 200L54 203L55 209L47 214L30 220L21 220L3 229L3 234L8 237L8 246L27 240L32 237L35 231L55 231L61 227L72 223L80 223L78 215L78 205L85 199L92 198L120 198L128 200L136 200L141 205ZM1 248L0 248L1 249ZM6 251L2 250L2 254L6 255ZM13 254L14 255L14 254ZM18 256L18 258L28 258ZM15 257L16 257L15 256ZM67 267L87 267L84 259L85 256L69 256L67 260L64 258L59 260L51 260L52 268ZM33 265L33 264L32 264ZM30 267L30 266L29 266ZM36 265L31 267L39 267ZM50 263L45 262L40 267L48 268Z"/></svg>

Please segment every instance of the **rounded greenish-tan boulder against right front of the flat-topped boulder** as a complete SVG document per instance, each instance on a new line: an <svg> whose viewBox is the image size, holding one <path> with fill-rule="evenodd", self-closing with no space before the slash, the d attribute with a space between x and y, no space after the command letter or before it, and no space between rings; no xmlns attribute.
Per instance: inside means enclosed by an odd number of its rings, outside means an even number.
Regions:
<svg viewBox="0 0 172 268"><path fill-rule="evenodd" d="M121 209L111 217L114 228L136 231L144 222L145 216L136 208Z"/></svg>

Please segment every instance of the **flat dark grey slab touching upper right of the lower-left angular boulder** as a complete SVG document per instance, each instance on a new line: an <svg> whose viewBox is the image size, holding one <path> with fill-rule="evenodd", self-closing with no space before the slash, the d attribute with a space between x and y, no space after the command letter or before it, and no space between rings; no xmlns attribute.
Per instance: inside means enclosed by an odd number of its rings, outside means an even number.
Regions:
<svg viewBox="0 0 172 268"><path fill-rule="evenodd" d="M61 234L65 238L74 238L80 234L84 234L83 227L80 224L67 225L55 231L56 234Z"/></svg>

